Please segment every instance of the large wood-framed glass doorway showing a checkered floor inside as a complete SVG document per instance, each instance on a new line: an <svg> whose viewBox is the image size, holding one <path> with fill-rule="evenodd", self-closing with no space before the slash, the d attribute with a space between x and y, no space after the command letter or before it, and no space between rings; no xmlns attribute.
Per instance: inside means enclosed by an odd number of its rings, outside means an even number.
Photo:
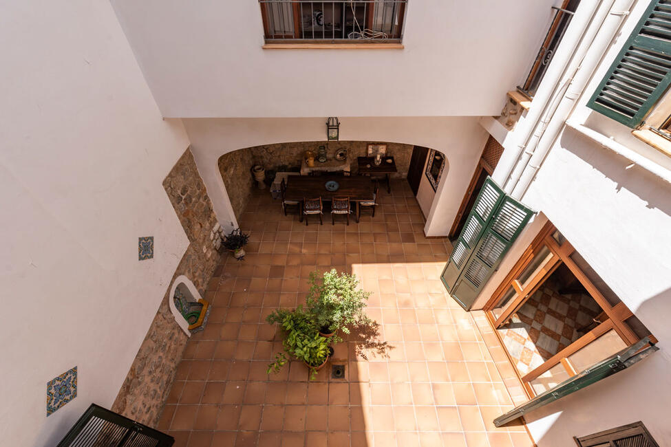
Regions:
<svg viewBox="0 0 671 447"><path fill-rule="evenodd" d="M657 342L551 222L484 311L530 398L645 337Z"/></svg>

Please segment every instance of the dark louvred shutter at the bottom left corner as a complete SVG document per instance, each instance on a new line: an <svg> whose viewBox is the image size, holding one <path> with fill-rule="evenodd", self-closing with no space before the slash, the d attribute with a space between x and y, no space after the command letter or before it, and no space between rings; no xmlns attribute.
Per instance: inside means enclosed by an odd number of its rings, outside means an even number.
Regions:
<svg viewBox="0 0 671 447"><path fill-rule="evenodd" d="M175 439L91 404L58 447L171 447Z"/></svg>

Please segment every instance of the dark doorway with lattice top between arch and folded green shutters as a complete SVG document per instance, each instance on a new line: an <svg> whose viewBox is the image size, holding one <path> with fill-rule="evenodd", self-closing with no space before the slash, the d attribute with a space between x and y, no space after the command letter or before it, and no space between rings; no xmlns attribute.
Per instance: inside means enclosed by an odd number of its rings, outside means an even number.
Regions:
<svg viewBox="0 0 671 447"><path fill-rule="evenodd" d="M484 144L484 149L482 149L482 155L480 155L480 160L478 160L478 166L476 166L476 171L471 177L471 183L466 190L466 194L461 201L461 206L457 212L457 215L452 223L452 228L449 230L448 237L450 239L455 239L460 234L462 228L466 223L471 210L473 209L473 204L475 204L480 190L482 190L482 185L484 185L484 179L487 178L487 175L492 175L494 168L498 164L498 160L503 153L503 146L496 141L493 136L489 135L487 143ZM409 175L408 175L409 179Z"/></svg>

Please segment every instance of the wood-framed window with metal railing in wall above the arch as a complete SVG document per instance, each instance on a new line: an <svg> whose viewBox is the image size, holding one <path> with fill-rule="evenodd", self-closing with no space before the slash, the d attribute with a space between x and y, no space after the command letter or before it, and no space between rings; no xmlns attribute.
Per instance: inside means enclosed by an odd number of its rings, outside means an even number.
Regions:
<svg viewBox="0 0 671 447"><path fill-rule="evenodd" d="M400 43L407 0L259 0L268 43Z"/></svg>

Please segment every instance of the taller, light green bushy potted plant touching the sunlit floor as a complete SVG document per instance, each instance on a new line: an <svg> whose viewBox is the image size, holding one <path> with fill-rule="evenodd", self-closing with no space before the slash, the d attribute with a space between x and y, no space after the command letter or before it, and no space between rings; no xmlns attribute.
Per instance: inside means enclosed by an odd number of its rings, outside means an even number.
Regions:
<svg viewBox="0 0 671 447"><path fill-rule="evenodd" d="M348 325L370 322L364 312L370 292L359 288L359 280L355 275L338 274L335 269L321 277L317 272L312 272L309 282L307 308L315 316L323 337L332 337L338 330L350 334ZM339 337L336 338L339 340Z"/></svg>

